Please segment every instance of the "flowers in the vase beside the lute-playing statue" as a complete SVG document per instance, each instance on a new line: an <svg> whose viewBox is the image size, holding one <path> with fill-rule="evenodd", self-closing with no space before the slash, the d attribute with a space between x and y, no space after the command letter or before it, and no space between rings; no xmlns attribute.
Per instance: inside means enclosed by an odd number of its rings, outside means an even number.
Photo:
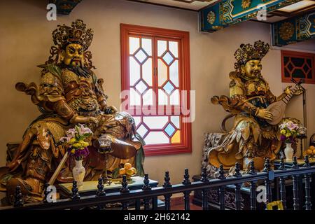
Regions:
<svg viewBox="0 0 315 224"><path fill-rule="evenodd" d="M295 138L302 135L305 132L305 127L300 124L293 123L291 120L283 122L280 127L281 141L286 143L295 142Z"/></svg>

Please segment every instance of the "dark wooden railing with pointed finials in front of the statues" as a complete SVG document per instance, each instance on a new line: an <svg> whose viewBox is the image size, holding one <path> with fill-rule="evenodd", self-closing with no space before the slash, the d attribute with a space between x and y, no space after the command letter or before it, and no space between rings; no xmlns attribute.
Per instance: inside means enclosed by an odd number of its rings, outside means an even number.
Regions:
<svg viewBox="0 0 315 224"><path fill-rule="evenodd" d="M78 188L76 182L73 182L72 195L69 199L57 200L53 203L48 203L46 200L43 202L34 204L23 204L22 194L20 193L20 188L17 188L15 193L15 202L13 206L1 207L0 210L7 209L18 209L18 210L50 210L50 209L83 209L96 207L97 209L104 209L106 204L113 202L121 202L121 209L127 210L129 208L130 202L139 202L140 200L144 204L144 209L158 209L157 205L153 203L151 207L150 200L153 197L164 196L165 198L165 209L171 209L171 197L175 193L183 193L183 198L185 202L185 210L190 210L190 193L194 190L202 190L202 209L209 209L208 202L208 191L209 188L218 188L219 192L219 204L220 209L225 209L225 188L229 185L235 186L235 209L241 209L240 195L241 195L241 185L243 183L249 183L250 185L250 203L251 210L257 208L257 195L256 195L256 183L257 181L265 182L265 197L267 202L272 202L272 182L279 179L279 191L280 198L284 209L286 209L286 183L285 179L292 177L293 179L293 209L300 209L300 192L303 189L299 189L298 179L302 177L304 179L304 208L306 210L311 210L311 174L315 173L315 166L309 165L309 158L305 157L304 165L302 167L297 166L296 158L293 159L293 166L290 169L284 167L283 160L281 160L280 167L277 170L272 170L269 159L265 160L265 169L262 172L256 173L254 170L254 164L251 162L251 169L246 174L241 174L239 164L235 165L235 175L230 177L225 177L225 171L221 165L218 172L218 179L208 179L207 170L202 169L202 179L196 182L190 182L190 176L188 174L188 169L185 169L183 182L176 185L171 185L169 172L165 172L165 183L161 187L151 188L149 185L148 174L144 177L144 186L141 190L129 190L127 185L126 176L123 176L122 187L118 193L108 193L104 192L104 186L102 179L99 179L99 185L97 186L97 192L92 196L80 197L78 195ZM303 186L303 185L302 185ZM47 185L45 186L47 188ZM46 192L45 195L48 195ZM314 196L314 195L313 195ZM140 204L135 203L135 209L139 210Z"/></svg>

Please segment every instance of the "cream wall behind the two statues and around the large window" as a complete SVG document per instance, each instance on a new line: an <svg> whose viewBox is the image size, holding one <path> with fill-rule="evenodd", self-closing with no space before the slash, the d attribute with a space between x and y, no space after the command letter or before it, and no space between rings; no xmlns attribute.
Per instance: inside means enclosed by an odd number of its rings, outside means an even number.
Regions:
<svg viewBox="0 0 315 224"><path fill-rule="evenodd" d="M15 90L15 83L38 82L40 69L52 45L51 33L58 24L70 25L73 20L84 20L94 29L90 47L99 78L104 78L109 103L120 105L120 23L145 25L190 31L191 89L196 90L196 119L193 123L193 153L147 157L146 172L151 179L162 183L164 171L169 170L172 183L180 183L183 170L190 175L200 173L204 132L219 132L221 120L227 113L214 106L210 98L228 94L233 70L234 52L240 43L257 40L269 42L269 25L243 22L213 34L198 31L197 13L188 10L152 6L123 0L82 1L70 16L59 16L57 22L45 20L45 1L8 1L0 3L0 165L5 165L6 143L20 141L25 128L38 116L28 96ZM314 47L314 42L310 43ZM314 49L314 48L313 48ZM262 61L263 76L269 80L271 90L281 94L280 51L270 50ZM315 85L308 89L309 132L315 132L313 116ZM301 114L301 107L292 109Z"/></svg>

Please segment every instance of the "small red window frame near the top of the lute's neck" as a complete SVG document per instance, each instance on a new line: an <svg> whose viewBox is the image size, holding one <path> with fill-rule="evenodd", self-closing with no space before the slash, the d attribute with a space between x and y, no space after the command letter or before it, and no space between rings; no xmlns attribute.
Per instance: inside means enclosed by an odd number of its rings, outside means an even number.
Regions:
<svg viewBox="0 0 315 224"><path fill-rule="evenodd" d="M289 61L285 64L284 63L284 57L289 57ZM315 84L315 54L307 53L307 52L297 52L297 51L289 51L289 50L281 50L281 80L282 83L291 83L292 73L295 68L302 69L303 66L306 66L305 62L302 64L302 66L295 66L294 63L290 63L290 57L297 57L297 58L303 58L311 59L311 78L304 78L304 83L309 84ZM293 67L293 69L289 69L288 65ZM287 72L290 73L290 77L285 76L285 69L287 69ZM304 69L303 69L304 70Z"/></svg>

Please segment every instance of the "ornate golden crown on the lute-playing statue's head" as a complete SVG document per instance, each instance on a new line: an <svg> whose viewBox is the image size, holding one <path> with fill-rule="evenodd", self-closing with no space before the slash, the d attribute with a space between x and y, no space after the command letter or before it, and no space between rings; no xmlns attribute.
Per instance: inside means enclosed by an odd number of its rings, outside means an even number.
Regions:
<svg viewBox="0 0 315 224"><path fill-rule="evenodd" d="M259 59L265 57L269 51L269 43L264 43L263 41L255 41L254 45L250 43L240 45L240 48L237 49L234 56L237 59L237 64L246 64L248 60Z"/></svg>

